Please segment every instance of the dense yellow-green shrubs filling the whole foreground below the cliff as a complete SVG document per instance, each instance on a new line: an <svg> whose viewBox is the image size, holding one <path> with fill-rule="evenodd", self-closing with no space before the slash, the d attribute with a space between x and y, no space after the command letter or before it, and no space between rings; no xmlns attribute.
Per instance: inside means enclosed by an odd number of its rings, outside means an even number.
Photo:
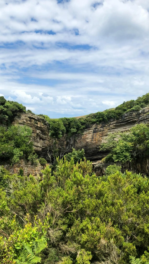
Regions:
<svg viewBox="0 0 149 264"><path fill-rule="evenodd" d="M1 167L0 262L147 264L148 204L149 179L116 165L97 177L85 159L57 159L38 179Z"/></svg>

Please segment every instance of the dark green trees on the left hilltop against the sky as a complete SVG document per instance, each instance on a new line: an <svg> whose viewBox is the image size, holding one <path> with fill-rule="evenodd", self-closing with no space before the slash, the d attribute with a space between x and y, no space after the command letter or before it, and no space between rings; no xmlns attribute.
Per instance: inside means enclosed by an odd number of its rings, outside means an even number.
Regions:
<svg viewBox="0 0 149 264"><path fill-rule="evenodd" d="M6 101L3 96L0 96L0 124L10 125L19 112L26 112L25 106L17 102Z"/></svg>

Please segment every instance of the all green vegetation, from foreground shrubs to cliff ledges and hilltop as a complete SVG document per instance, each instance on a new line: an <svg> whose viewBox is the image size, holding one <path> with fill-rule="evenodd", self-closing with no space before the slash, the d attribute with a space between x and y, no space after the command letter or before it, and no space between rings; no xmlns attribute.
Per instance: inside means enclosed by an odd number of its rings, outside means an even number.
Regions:
<svg viewBox="0 0 149 264"><path fill-rule="evenodd" d="M12 110L13 103L0 97L0 114L6 114L1 115L0 159L15 163L25 158L45 168L35 179L22 168L19 175L11 175L0 166L0 263L148 264L149 178L122 173L116 164L97 177L84 149L60 159L57 142L65 133L70 136L92 123L140 110L148 105L149 94L85 118L44 116L55 147L52 166L34 153L32 130L11 125L22 111L19 104ZM109 150L106 161L147 158L149 125L109 135L101 150Z"/></svg>

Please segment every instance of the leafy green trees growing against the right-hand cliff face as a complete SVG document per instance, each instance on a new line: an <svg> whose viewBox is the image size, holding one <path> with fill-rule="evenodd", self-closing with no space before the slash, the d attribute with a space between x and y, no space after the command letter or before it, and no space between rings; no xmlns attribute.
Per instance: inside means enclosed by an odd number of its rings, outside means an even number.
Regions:
<svg viewBox="0 0 149 264"><path fill-rule="evenodd" d="M109 150L110 153L103 159L104 162L127 162L134 159L147 158L149 155L149 125L137 124L130 132L111 133L107 142L100 145L100 150Z"/></svg>

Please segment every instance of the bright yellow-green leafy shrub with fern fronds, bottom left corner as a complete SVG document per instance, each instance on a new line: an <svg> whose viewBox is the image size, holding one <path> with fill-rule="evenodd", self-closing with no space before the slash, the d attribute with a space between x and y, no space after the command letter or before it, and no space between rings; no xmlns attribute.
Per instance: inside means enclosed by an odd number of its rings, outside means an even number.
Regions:
<svg viewBox="0 0 149 264"><path fill-rule="evenodd" d="M35 217L34 222L29 222L29 214L25 217L26 224L23 228L18 226L16 218L11 221L13 233L5 240L0 237L2 246L1 263L41 263L41 252L47 247L45 223ZM12 228L13 227L13 228ZM16 258L16 259L15 259Z"/></svg>

